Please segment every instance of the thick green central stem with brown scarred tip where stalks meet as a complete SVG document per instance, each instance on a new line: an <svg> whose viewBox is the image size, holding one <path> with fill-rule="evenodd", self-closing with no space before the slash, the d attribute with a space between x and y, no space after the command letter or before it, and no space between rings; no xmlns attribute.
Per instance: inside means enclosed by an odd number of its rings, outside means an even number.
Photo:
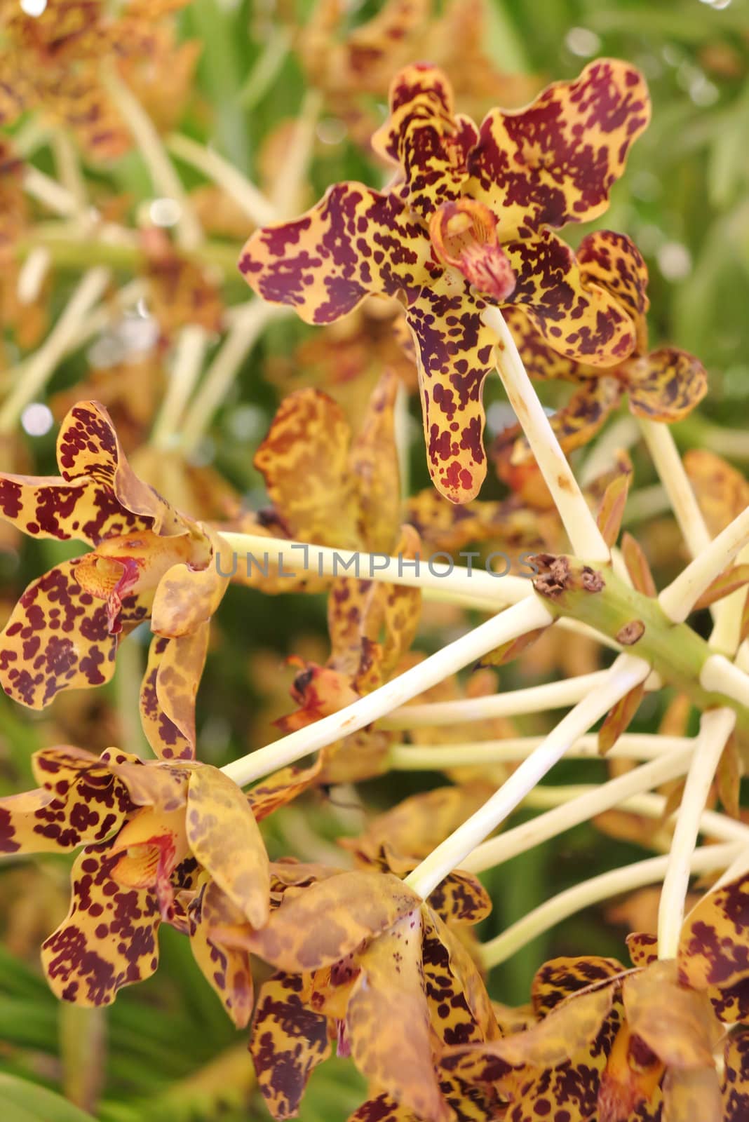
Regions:
<svg viewBox="0 0 749 1122"><path fill-rule="evenodd" d="M538 555L536 563L545 571L534 587L553 615L611 635L699 709L728 706L737 714L738 727L749 730L749 677L725 659L716 663L722 656L686 624L673 623L657 600L630 588L609 567L595 569L575 558L548 554ZM716 669L705 684L709 664Z"/></svg>

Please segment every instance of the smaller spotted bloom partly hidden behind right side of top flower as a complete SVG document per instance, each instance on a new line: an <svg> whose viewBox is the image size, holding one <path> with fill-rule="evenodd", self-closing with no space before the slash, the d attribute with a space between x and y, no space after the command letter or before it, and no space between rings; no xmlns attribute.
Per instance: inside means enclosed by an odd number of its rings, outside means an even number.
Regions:
<svg viewBox="0 0 749 1122"><path fill-rule="evenodd" d="M597 230L583 238L577 263L586 283L605 288L627 310L635 323L637 343L623 361L600 369L557 353L524 311L508 309L507 322L530 377L558 378L580 386L552 419L560 443L566 451L586 443L618 407L623 394L635 416L668 424L682 421L706 394L708 376L699 359L686 351L675 347L648 349L648 273L639 250L625 234Z"/></svg>

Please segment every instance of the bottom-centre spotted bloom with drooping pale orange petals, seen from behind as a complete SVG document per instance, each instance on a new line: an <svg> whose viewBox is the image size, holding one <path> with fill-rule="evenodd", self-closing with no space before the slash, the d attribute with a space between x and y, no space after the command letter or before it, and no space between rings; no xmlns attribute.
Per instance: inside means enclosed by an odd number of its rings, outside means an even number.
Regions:
<svg viewBox="0 0 749 1122"><path fill-rule="evenodd" d="M272 1116L296 1114L335 1041L370 1082L370 1098L350 1122L446 1122L464 1097L474 1104L471 1118L496 1118L491 1089L477 1093L450 1075L440 1082L435 1069L441 1045L497 1032L457 935L490 910L478 881L453 873L425 903L389 872L316 871L305 883L304 866L289 872L295 891L281 895L265 928L222 932L279 972L260 990L250 1045Z"/></svg>

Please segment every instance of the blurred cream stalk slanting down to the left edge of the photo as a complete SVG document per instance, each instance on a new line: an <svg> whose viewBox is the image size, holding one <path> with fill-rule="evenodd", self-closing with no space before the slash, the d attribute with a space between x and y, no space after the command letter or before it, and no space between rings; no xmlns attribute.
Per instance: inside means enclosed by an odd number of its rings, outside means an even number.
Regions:
<svg viewBox="0 0 749 1122"><path fill-rule="evenodd" d="M110 272L102 265L83 274L49 334L20 368L20 377L0 408L0 433L12 432L24 408L44 389L109 279Z"/></svg>

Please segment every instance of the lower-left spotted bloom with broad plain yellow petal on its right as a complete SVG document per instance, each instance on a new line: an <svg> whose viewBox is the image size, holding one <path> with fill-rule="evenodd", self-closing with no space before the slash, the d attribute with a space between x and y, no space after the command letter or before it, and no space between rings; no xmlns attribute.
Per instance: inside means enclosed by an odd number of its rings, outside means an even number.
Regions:
<svg viewBox="0 0 749 1122"><path fill-rule="evenodd" d="M108 1005L158 966L161 922L189 935L195 958L231 1017L252 1009L249 969L226 969L210 925L268 918L268 857L241 790L194 762L144 763L118 748L37 752L37 790L0 799L0 854L71 853L67 917L41 962L64 1001Z"/></svg>

